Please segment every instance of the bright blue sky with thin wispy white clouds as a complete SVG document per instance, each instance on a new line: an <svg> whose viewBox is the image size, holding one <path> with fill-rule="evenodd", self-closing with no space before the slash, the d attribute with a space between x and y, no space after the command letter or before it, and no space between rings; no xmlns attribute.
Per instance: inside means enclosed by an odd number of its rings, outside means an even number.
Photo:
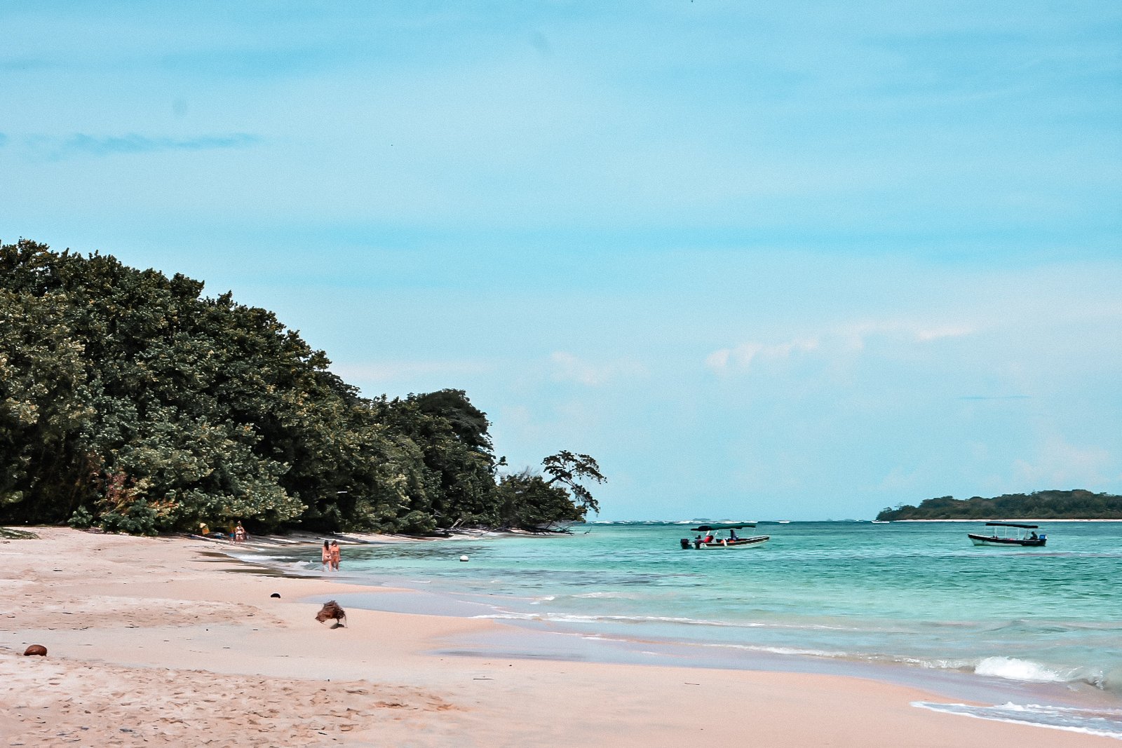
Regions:
<svg viewBox="0 0 1122 748"><path fill-rule="evenodd" d="M1122 493L1122 3L0 6L0 240L463 389L599 519Z"/></svg>

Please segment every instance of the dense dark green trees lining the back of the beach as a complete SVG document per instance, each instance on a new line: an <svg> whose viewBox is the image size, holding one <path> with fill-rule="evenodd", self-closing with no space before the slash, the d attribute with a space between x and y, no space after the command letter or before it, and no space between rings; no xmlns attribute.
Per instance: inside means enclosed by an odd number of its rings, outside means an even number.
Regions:
<svg viewBox="0 0 1122 748"><path fill-rule="evenodd" d="M588 455L499 477L462 390L359 397L273 313L202 289L0 247L0 521L427 533L598 509Z"/></svg>

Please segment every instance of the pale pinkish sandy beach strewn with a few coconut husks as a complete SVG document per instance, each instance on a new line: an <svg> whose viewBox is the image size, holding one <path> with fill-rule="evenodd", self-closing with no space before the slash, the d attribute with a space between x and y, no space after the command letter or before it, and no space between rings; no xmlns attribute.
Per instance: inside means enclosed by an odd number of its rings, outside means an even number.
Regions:
<svg viewBox="0 0 1122 748"><path fill-rule="evenodd" d="M34 530L0 542L4 746L1119 745L861 678L433 654L504 629L357 609L332 628L318 601L353 585L206 541Z"/></svg>

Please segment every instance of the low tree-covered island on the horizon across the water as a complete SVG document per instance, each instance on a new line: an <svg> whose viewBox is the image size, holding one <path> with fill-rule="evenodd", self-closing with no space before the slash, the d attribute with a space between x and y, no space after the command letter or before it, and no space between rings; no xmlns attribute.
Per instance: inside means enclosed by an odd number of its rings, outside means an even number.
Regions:
<svg viewBox="0 0 1122 748"><path fill-rule="evenodd" d="M991 499L981 496L956 499L940 496L918 507L910 504L885 507L879 520L900 519L1122 519L1122 496L1070 491L1004 493Z"/></svg>

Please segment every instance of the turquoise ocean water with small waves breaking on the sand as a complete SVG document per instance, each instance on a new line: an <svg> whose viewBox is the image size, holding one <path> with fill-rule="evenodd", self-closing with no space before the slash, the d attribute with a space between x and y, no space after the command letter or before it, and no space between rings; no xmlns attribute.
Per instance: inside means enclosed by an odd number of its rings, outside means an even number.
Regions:
<svg viewBox="0 0 1122 748"><path fill-rule="evenodd" d="M741 535L761 547L683 550L698 521L347 546L334 576L414 591L344 607L550 635L458 654L862 675L962 700L918 708L1122 739L1122 523L1041 523L1043 548L975 547L981 523L760 523ZM321 573L315 547L239 555Z"/></svg>

